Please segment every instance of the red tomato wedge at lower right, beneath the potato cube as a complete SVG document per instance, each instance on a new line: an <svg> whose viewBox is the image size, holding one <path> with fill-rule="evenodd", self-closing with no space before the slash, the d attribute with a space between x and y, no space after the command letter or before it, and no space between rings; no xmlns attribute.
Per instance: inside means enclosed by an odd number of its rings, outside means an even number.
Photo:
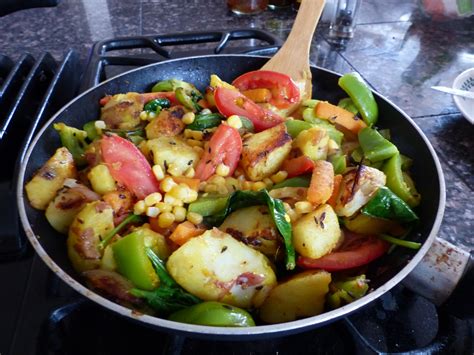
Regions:
<svg viewBox="0 0 474 355"><path fill-rule="evenodd" d="M299 256L298 266L305 269L339 271L352 269L370 263L384 255L390 244L375 236L344 231L345 239L334 252L319 259Z"/></svg>

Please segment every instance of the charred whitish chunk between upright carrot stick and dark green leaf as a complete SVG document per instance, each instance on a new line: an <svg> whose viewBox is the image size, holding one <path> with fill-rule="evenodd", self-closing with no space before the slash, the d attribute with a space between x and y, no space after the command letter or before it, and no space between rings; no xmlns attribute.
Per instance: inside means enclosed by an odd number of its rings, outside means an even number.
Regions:
<svg viewBox="0 0 474 355"><path fill-rule="evenodd" d="M334 209L338 216L350 217L362 208L385 185L383 172L361 165L342 178L340 195Z"/></svg>

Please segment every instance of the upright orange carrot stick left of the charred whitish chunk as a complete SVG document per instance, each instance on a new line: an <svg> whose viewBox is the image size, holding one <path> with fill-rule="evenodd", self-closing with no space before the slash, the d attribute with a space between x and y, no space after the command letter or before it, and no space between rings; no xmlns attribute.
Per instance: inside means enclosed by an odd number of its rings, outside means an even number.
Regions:
<svg viewBox="0 0 474 355"><path fill-rule="evenodd" d="M314 205L326 203L334 189L334 168L325 160L314 162L313 175L308 188L307 200Z"/></svg>

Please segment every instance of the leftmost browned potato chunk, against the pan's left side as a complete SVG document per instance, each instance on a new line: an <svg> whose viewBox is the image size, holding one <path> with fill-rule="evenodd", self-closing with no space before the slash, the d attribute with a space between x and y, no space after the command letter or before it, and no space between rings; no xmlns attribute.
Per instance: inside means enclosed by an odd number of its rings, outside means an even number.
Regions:
<svg viewBox="0 0 474 355"><path fill-rule="evenodd" d="M44 210L63 187L64 180L75 176L72 154L64 147L58 148L25 186L31 206Z"/></svg>

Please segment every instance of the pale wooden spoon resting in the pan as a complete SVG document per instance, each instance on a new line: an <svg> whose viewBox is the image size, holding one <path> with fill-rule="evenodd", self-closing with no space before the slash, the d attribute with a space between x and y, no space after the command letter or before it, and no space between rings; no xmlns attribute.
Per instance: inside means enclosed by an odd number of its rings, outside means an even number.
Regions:
<svg viewBox="0 0 474 355"><path fill-rule="evenodd" d="M309 50L324 2L301 0L288 38L273 58L262 67L262 70L272 70L290 76L300 88L301 100L310 99L312 94Z"/></svg>

